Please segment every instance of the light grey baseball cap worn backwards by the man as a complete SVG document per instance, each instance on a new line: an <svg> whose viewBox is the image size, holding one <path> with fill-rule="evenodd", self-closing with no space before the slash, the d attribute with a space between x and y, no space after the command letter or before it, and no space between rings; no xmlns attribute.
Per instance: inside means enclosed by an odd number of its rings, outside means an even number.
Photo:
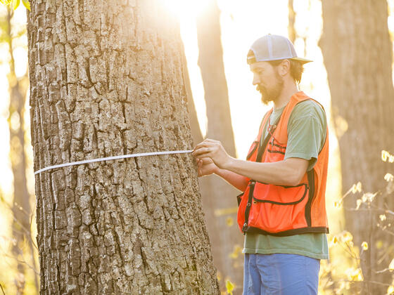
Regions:
<svg viewBox="0 0 394 295"><path fill-rule="evenodd" d="M251 52L250 52L251 51ZM289 39L279 35L267 34L250 46L248 53L248 64L256 63L259 61L269 60L297 60L304 64L312 60L306 58L299 58L295 53L293 43ZM252 54L253 53L253 54Z"/></svg>

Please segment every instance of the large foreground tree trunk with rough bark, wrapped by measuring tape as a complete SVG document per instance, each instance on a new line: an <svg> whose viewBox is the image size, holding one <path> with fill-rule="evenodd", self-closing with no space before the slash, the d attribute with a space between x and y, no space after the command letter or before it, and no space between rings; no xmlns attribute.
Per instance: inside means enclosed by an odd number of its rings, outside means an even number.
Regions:
<svg viewBox="0 0 394 295"><path fill-rule="evenodd" d="M160 1L31 1L34 169L191 148L179 26ZM191 155L36 176L42 294L219 294Z"/></svg>

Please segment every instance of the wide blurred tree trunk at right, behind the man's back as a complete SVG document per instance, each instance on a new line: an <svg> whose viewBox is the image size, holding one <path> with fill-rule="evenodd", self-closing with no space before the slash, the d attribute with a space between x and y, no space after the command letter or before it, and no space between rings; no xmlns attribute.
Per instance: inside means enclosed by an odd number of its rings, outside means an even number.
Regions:
<svg viewBox="0 0 394 295"><path fill-rule="evenodd" d="M323 0L324 29L320 46L329 79L333 120L341 153L343 190L360 181L364 192L379 192L374 206L393 208L392 198L382 197L383 176L390 166L381 161L381 150L393 152L394 91L392 47L387 25L387 2ZM360 194L345 198L346 228L354 235L355 246L363 241L370 248L362 256L365 281L391 282L390 275L376 274L387 268L390 257L383 252L391 244L388 234L376 230L379 211L362 214L355 208ZM380 251L374 246L383 240ZM366 284L364 291L379 288ZM376 294L385 294L386 287Z"/></svg>

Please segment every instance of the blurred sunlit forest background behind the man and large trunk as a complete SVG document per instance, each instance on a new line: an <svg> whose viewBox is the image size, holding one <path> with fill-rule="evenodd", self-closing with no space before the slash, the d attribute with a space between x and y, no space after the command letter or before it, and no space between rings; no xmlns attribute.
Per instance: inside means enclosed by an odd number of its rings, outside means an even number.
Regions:
<svg viewBox="0 0 394 295"><path fill-rule="evenodd" d="M193 138L221 140L234 157L246 157L271 107L252 85L246 54L253 41L281 34L313 60L300 90L326 110L331 155L331 258L322 261L319 294L393 293L394 0L163 1L179 18ZM39 290L28 83L26 9L1 5L0 294ZM218 186L225 199L212 198ZM215 176L201 179L222 293L231 282L241 294L243 236L237 193L227 187Z"/></svg>

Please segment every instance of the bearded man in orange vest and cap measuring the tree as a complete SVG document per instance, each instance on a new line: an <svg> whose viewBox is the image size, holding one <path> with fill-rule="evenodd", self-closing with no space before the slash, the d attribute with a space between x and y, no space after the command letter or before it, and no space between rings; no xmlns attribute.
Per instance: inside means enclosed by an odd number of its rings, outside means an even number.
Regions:
<svg viewBox="0 0 394 295"><path fill-rule="evenodd" d="M267 35L248 53L253 85L273 108L247 160L205 139L193 156L199 176L216 173L243 192L243 294L317 294L320 259L329 258L325 188L328 129L319 103L298 90L303 64L285 37Z"/></svg>

